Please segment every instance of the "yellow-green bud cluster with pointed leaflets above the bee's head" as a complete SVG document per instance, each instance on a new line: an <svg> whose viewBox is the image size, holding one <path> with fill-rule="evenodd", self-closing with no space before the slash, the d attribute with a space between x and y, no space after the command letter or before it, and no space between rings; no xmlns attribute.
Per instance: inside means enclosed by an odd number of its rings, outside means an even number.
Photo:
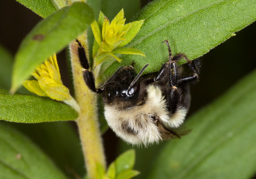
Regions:
<svg viewBox="0 0 256 179"><path fill-rule="evenodd" d="M91 24L95 40L93 44L92 56L95 65L102 62L121 59L114 54L135 54L145 56L145 54L134 48L122 48L128 44L140 30L144 20L125 23L124 10L122 9L110 23L108 18L100 12L98 22L94 20Z"/></svg>

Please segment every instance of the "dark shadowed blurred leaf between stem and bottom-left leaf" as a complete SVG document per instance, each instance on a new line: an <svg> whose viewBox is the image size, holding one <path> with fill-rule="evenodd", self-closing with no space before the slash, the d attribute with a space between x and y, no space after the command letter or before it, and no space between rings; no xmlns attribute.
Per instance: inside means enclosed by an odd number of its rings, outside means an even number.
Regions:
<svg viewBox="0 0 256 179"><path fill-rule="evenodd" d="M81 167L84 165L84 157L78 134L72 123L58 121L29 124L0 121L1 123L29 136L70 179L74 179L74 173L79 176L84 175L85 168Z"/></svg>

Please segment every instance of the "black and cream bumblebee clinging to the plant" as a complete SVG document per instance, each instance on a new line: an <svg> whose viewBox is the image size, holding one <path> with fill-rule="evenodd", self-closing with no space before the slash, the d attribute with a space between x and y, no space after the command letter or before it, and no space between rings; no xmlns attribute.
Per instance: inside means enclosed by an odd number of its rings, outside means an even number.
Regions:
<svg viewBox="0 0 256 179"><path fill-rule="evenodd" d="M188 133L188 130L177 128L184 122L190 106L190 84L199 79L199 60L190 61L181 53L172 56L168 40L165 40L169 60L159 72L142 76L148 64L138 74L134 64L121 66L96 88L85 50L78 40L76 42L84 68L84 82L90 90L102 94L106 121L118 137L133 145L147 146ZM182 66L188 66L189 75L183 75L177 65L183 58L187 63Z"/></svg>

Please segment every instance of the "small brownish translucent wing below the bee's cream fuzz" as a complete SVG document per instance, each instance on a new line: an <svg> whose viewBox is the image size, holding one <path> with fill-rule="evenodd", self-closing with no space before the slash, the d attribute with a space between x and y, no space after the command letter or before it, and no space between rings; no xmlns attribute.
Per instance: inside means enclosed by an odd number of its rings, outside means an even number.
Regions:
<svg viewBox="0 0 256 179"><path fill-rule="evenodd" d="M192 129L187 129L186 127L179 127L177 129L173 129L173 128L169 129L162 123L161 120L158 120L157 126L162 135L163 140L180 138L182 135L187 135L192 130Z"/></svg>

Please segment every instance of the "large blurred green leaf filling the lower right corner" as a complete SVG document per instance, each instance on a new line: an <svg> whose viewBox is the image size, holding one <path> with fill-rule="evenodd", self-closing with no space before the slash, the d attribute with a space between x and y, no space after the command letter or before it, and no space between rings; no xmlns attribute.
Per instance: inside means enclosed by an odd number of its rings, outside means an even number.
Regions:
<svg viewBox="0 0 256 179"><path fill-rule="evenodd" d="M256 168L256 71L187 119L191 133L169 141L149 179L248 179Z"/></svg>

